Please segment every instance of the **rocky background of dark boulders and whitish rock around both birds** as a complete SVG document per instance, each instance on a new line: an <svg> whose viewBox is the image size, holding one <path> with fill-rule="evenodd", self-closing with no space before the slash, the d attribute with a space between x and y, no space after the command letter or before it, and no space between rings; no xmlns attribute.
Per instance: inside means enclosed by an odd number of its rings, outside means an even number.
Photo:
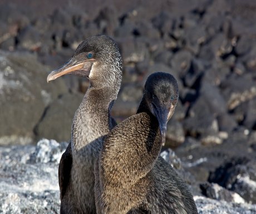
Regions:
<svg viewBox="0 0 256 214"><path fill-rule="evenodd" d="M70 139L88 81L47 84L46 77L99 33L112 36L124 58L116 120L136 112L150 73L172 73L180 99L162 155L189 183L201 213L256 213L249 205L256 204L255 19L249 0L2 0L0 213L58 212L65 143L31 145Z"/></svg>

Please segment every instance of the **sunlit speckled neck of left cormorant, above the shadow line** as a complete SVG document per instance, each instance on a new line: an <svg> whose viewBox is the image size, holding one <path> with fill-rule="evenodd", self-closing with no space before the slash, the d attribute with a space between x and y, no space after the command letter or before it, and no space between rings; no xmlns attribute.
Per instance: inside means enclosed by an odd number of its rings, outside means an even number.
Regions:
<svg viewBox="0 0 256 214"><path fill-rule="evenodd" d="M109 132L110 111L116 94L107 87L87 89L73 118L73 151L82 152L83 147Z"/></svg>

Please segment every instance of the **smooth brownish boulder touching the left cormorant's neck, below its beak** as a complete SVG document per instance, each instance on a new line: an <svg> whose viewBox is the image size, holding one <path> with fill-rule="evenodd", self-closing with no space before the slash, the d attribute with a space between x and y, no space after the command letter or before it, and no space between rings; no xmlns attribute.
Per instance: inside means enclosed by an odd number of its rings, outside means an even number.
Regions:
<svg viewBox="0 0 256 214"><path fill-rule="evenodd" d="M72 118L82 98L83 94L80 93L66 93L53 101L35 129L37 138L47 137L58 141L70 140Z"/></svg>

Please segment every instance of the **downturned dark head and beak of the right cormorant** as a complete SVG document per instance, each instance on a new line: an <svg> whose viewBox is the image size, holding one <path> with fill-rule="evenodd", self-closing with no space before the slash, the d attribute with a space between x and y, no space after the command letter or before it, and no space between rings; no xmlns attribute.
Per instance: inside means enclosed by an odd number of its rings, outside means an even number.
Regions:
<svg viewBox="0 0 256 214"><path fill-rule="evenodd" d="M147 78L144 96L150 112L159 122L164 145L166 124L173 116L179 98L178 83L174 76L169 73L153 73Z"/></svg>

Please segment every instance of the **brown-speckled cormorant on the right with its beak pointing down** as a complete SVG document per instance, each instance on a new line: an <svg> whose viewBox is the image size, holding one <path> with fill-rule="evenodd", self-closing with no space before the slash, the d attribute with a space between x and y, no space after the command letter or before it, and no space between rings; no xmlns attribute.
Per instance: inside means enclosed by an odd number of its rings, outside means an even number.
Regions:
<svg viewBox="0 0 256 214"><path fill-rule="evenodd" d="M177 101L176 79L151 74L137 114L106 136L95 163L98 214L198 213L185 182L159 156Z"/></svg>

